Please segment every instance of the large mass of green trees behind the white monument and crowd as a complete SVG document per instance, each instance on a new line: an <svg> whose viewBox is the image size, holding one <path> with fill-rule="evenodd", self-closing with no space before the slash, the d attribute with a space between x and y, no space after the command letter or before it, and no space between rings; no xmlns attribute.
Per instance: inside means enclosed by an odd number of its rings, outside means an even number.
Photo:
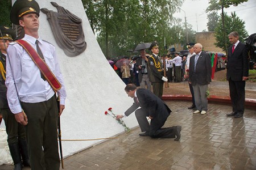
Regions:
<svg viewBox="0 0 256 170"><path fill-rule="evenodd" d="M134 49L141 42L156 40L163 52L164 37L167 46L185 40L183 27L172 29L172 14L183 1L84 0L82 3L102 51L111 58L129 55L126 50ZM181 39L174 41L177 34Z"/></svg>

